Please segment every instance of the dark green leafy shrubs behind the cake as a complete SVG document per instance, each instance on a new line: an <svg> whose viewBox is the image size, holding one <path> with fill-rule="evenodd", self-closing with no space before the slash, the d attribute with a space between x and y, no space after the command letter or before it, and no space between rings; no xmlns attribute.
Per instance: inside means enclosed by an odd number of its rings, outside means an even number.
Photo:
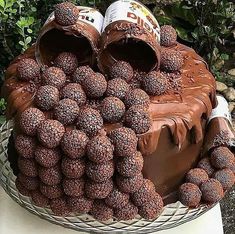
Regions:
<svg viewBox="0 0 235 234"><path fill-rule="evenodd" d="M0 85L10 61L33 42L60 0L0 0ZM112 0L75 0L103 14ZM172 24L179 40L203 56L217 80L235 85L226 71L235 66L235 3L229 0L143 0L160 25ZM0 99L0 114L5 110Z"/></svg>

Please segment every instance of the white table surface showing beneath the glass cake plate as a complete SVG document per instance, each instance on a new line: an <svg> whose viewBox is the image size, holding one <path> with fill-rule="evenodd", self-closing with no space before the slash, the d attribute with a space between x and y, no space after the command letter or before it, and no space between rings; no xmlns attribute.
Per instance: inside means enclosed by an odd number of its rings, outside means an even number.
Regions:
<svg viewBox="0 0 235 234"><path fill-rule="evenodd" d="M0 234L75 234L84 233L51 224L31 214L5 193L0 186ZM157 234L223 234L220 206L179 227Z"/></svg>

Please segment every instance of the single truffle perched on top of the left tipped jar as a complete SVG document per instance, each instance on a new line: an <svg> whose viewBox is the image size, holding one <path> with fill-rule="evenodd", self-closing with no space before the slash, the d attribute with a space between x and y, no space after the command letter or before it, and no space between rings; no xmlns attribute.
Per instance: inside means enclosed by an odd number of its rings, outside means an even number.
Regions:
<svg viewBox="0 0 235 234"><path fill-rule="evenodd" d="M71 2L55 5L55 20L62 26L75 24L78 20L79 9Z"/></svg>

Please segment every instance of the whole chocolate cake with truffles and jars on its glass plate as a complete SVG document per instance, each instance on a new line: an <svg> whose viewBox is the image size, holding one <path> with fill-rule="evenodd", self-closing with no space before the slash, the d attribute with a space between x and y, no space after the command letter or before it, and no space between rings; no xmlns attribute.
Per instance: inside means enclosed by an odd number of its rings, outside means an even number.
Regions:
<svg viewBox="0 0 235 234"><path fill-rule="evenodd" d="M234 133L206 62L140 2L55 6L6 71L0 179L50 222L149 233L235 183Z"/></svg>

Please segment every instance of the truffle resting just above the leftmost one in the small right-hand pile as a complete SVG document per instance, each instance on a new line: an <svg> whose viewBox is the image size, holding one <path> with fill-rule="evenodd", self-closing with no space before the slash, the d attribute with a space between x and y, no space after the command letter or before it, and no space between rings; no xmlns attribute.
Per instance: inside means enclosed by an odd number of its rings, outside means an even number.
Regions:
<svg viewBox="0 0 235 234"><path fill-rule="evenodd" d="M203 182L209 179L206 171L201 168L191 169L186 175L186 182L200 186Z"/></svg>

